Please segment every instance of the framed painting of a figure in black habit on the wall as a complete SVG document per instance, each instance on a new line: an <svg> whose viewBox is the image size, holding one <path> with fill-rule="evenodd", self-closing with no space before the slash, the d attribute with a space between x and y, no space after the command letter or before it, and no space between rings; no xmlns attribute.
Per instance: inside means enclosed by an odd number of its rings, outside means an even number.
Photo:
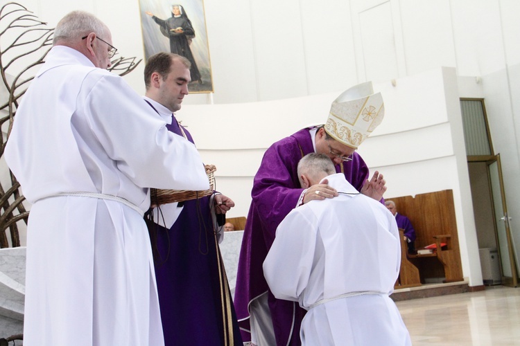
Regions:
<svg viewBox="0 0 520 346"><path fill-rule="evenodd" d="M139 0L144 60L171 52L191 62L190 93L212 93L211 62L203 0Z"/></svg>

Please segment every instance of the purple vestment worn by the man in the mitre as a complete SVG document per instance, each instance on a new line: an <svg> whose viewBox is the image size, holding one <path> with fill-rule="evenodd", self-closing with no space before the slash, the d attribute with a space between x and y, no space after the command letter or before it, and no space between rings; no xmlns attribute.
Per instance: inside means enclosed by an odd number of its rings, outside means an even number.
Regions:
<svg viewBox="0 0 520 346"><path fill-rule="evenodd" d="M303 156L314 152L310 129L297 131L271 145L263 155L260 168L254 176L252 202L245 224L234 299L243 340L250 340L251 337L248 332L249 302L268 292L277 344L288 345L288 340L291 340L290 345L301 345L300 325L305 310L296 302L277 300L268 291L262 264L275 239L277 226L295 208L304 190L300 188L298 181L297 164ZM361 191L369 173L365 161L356 152L352 155L352 161L336 165L336 172L343 172L347 181L358 191Z"/></svg>

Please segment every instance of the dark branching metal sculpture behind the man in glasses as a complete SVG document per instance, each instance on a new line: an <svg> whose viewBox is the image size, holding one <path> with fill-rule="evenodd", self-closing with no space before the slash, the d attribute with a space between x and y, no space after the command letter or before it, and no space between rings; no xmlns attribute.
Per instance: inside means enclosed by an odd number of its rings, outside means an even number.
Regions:
<svg viewBox="0 0 520 346"><path fill-rule="evenodd" d="M53 33L54 28L49 28L19 3L6 3L0 8L0 76L6 90L4 99L0 86L0 156L3 156L19 101L33 80L36 67L44 63L51 49ZM109 70L126 75L140 62L136 57L118 57ZM29 215L20 185L12 172L9 174L8 188L2 185L5 182L0 182L0 248L9 246L7 229L12 246L20 246L17 223L27 224Z"/></svg>

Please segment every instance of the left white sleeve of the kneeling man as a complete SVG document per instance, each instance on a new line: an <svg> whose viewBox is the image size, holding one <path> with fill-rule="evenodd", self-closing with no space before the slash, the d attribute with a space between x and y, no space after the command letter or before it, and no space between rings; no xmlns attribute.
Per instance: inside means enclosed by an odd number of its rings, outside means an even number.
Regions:
<svg viewBox="0 0 520 346"><path fill-rule="evenodd" d="M278 299L297 301L309 282L318 221L305 207L292 210L281 221L263 262L263 275Z"/></svg>

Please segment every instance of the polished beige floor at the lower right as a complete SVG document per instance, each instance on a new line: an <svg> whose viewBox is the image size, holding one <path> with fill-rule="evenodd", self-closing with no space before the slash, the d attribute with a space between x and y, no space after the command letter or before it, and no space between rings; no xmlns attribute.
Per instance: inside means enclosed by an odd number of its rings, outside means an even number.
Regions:
<svg viewBox="0 0 520 346"><path fill-rule="evenodd" d="M396 302L414 346L520 345L520 288Z"/></svg>

